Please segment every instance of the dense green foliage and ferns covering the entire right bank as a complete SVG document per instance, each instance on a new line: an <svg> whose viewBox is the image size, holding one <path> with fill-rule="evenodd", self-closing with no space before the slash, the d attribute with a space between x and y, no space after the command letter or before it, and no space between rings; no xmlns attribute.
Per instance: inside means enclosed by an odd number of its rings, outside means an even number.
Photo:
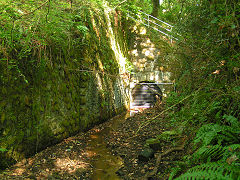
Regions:
<svg viewBox="0 0 240 180"><path fill-rule="evenodd" d="M160 17L182 38L167 67L177 91L167 99L176 126L184 126L193 154L172 171L178 179L236 179L240 159L240 4L237 1L165 1ZM164 11L163 11L164 10ZM187 98L186 98L187 97ZM184 101L181 101L185 98ZM181 102L181 103L178 103ZM224 165L225 164L225 165Z"/></svg>

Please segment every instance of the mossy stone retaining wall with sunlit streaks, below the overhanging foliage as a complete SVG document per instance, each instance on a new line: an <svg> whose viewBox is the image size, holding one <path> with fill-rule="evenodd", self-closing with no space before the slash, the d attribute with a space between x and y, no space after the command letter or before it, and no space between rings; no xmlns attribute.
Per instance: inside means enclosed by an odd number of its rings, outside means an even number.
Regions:
<svg viewBox="0 0 240 180"><path fill-rule="evenodd" d="M126 110L124 21L109 8L101 18L89 14L86 45L70 56L52 53L33 66L30 54L19 60L24 78L17 79L0 64L0 148L8 150L0 151L2 168Z"/></svg>

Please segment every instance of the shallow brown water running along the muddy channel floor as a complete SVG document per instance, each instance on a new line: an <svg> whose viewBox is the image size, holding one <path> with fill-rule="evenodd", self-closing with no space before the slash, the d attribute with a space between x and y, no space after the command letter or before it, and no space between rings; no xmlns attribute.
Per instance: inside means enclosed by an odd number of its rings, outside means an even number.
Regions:
<svg viewBox="0 0 240 180"><path fill-rule="evenodd" d="M107 148L107 143L104 141L105 136L109 136L111 131L118 128L119 124L129 117L129 113L125 113L114 117L110 120L110 126L103 130L95 132L89 136L88 150L94 153L93 156L93 175L92 180L119 180L116 172L123 166L123 160L120 156L115 156Z"/></svg>

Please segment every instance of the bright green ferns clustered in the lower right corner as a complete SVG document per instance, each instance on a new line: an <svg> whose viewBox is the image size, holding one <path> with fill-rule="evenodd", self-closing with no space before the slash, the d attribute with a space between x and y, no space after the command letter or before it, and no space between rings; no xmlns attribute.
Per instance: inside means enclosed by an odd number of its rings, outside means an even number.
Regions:
<svg viewBox="0 0 240 180"><path fill-rule="evenodd" d="M177 179L240 179L240 123L230 115L223 118L222 124L206 124L198 130L194 143L200 148L188 162L194 167Z"/></svg>

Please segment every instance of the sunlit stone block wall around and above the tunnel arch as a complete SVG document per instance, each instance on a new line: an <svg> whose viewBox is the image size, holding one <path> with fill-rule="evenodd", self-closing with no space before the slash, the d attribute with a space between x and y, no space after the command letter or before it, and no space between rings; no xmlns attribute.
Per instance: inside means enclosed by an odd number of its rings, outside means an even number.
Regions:
<svg viewBox="0 0 240 180"><path fill-rule="evenodd" d="M167 72L159 63L161 59L162 47L152 41L147 34L148 29L141 25L135 25L131 32L131 45L129 46L129 55L133 64L130 80L130 91L141 81L151 81L155 83L171 83L171 73ZM174 89L173 84L159 85L163 95Z"/></svg>

